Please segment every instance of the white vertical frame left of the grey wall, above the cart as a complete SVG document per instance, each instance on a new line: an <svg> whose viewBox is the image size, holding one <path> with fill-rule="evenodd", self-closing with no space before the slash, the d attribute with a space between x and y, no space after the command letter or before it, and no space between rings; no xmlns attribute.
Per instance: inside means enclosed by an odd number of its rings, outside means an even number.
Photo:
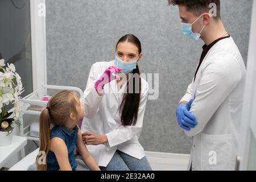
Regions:
<svg viewBox="0 0 256 182"><path fill-rule="evenodd" d="M47 84L46 16L39 16L45 0L30 0L33 90Z"/></svg>

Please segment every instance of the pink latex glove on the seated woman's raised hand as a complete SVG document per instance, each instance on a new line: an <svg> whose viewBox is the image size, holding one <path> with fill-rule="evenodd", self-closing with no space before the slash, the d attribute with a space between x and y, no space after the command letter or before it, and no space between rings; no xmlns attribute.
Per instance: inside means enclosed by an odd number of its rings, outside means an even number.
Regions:
<svg viewBox="0 0 256 182"><path fill-rule="evenodd" d="M96 81L96 83L94 84L94 88L97 90L97 91L102 91L104 90L104 86L106 84L108 84L109 82L119 78L117 75L117 73L119 71L121 71L122 69L121 68L117 68L115 66L111 66L109 67L108 69L106 69L106 71L102 74L102 76L100 77L100 79L98 79ZM112 73L115 74L115 76L112 75Z"/></svg>

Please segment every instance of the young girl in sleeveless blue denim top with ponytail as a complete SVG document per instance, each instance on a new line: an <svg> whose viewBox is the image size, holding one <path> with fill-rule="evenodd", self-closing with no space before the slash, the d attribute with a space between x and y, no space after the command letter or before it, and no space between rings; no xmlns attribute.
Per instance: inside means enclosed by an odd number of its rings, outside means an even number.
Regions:
<svg viewBox="0 0 256 182"><path fill-rule="evenodd" d="M84 106L75 92L63 90L49 100L40 114L40 151L46 164L36 158L38 171L72 171L77 167L75 148L91 170L100 170L82 141L77 121L84 117ZM51 124L53 125L51 127Z"/></svg>

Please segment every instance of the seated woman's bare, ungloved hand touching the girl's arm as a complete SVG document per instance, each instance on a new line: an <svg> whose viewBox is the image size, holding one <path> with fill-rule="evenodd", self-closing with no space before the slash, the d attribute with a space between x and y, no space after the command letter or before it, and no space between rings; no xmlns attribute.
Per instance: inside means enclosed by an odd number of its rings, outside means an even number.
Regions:
<svg viewBox="0 0 256 182"><path fill-rule="evenodd" d="M85 132L82 134L82 140L85 144L90 144L93 146L97 146L98 144L108 143L108 138L106 135L97 135L92 132Z"/></svg>

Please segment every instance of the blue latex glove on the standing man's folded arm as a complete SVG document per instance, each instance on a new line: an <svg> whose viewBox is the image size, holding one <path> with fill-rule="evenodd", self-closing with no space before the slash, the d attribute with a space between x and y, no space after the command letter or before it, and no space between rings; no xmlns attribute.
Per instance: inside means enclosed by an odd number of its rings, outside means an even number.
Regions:
<svg viewBox="0 0 256 182"><path fill-rule="evenodd" d="M180 127L187 131L197 125L196 117L189 112L192 103L193 100L190 100L186 104L178 105L176 109L177 122Z"/></svg>

